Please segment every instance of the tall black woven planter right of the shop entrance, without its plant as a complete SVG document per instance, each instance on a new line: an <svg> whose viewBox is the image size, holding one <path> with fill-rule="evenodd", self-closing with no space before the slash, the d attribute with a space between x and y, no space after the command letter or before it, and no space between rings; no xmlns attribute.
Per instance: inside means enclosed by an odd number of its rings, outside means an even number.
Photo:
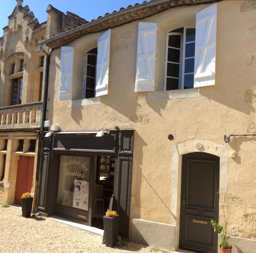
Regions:
<svg viewBox="0 0 256 253"><path fill-rule="evenodd" d="M109 218L109 217L103 216L103 226L104 226L106 246L110 248L115 247L117 243L119 216L115 218Z"/></svg>

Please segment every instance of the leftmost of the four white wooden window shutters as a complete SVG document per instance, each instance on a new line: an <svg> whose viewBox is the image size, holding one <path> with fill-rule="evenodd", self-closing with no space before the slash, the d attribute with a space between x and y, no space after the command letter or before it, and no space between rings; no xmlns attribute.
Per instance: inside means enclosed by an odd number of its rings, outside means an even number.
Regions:
<svg viewBox="0 0 256 253"><path fill-rule="evenodd" d="M61 47L59 101L71 100L74 48Z"/></svg>

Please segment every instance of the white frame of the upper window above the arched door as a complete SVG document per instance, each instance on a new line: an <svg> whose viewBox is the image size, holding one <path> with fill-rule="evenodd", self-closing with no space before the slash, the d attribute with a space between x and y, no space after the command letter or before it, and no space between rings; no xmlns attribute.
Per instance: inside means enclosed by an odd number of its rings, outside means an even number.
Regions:
<svg viewBox="0 0 256 253"><path fill-rule="evenodd" d="M166 33L165 66L164 66L164 91L166 91L166 81L167 81L167 77L168 77L167 76L168 48L179 49L179 48L176 48L176 47L168 46L169 36L170 35L181 35L181 49L180 49L181 52L180 52L180 72L179 72L179 78L172 77L172 78L175 78L175 79L179 79L179 90L183 90L184 89L184 79L185 79L184 76L188 75L188 74L194 74L194 72L185 73L185 59L195 58L195 56L193 56L193 57L186 57L185 58L185 50L186 50L186 44L193 43L195 41L186 42L185 38L186 38L186 29L195 29L195 27L184 26L183 29L184 29L183 33L177 33L177 32ZM176 30L176 29L174 29L174 30Z"/></svg>

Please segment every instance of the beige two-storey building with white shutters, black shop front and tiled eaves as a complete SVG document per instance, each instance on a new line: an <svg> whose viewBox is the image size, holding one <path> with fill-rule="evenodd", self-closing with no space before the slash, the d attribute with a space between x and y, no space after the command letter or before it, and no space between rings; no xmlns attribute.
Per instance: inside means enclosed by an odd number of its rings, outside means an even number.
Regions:
<svg viewBox="0 0 256 253"><path fill-rule="evenodd" d="M38 210L93 225L91 193L87 209L67 204L84 159L133 241L217 252L221 196L233 252L254 252L256 138L223 136L255 134L255 12L255 1L155 0L40 42L59 130L44 133Z"/></svg>

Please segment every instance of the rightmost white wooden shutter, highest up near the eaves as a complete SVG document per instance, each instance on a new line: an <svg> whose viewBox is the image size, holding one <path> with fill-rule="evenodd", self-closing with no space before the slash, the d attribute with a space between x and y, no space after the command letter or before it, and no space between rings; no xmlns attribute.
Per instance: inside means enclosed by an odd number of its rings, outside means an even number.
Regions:
<svg viewBox="0 0 256 253"><path fill-rule="evenodd" d="M196 14L194 87L215 84L217 5Z"/></svg>

